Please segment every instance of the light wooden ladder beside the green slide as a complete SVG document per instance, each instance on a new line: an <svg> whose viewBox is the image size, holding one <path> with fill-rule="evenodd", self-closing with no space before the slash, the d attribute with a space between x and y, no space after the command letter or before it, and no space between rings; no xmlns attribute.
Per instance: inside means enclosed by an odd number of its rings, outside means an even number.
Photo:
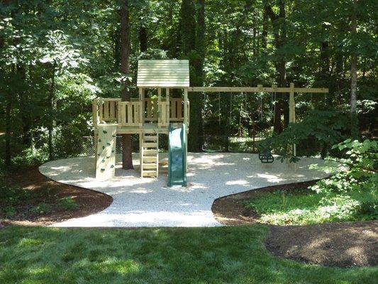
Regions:
<svg viewBox="0 0 378 284"><path fill-rule="evenodd" d="M143 134L141 145L140 176L157 178L159 175L159 136L157 133Z"/></svg>

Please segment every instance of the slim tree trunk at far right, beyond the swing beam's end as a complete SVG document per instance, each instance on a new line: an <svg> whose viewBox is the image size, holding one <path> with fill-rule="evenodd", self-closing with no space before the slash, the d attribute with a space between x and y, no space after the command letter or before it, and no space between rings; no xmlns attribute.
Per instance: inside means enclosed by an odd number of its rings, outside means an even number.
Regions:
<svg viewBox="0 0 378 284"><path fill-rule="evenodd" d="M356 47L353 43L356 42L357 33L357 16L356 16L357 0L353 1L352 7L352 21L350 23L352 36L352 54L350 58L350 123L352 130L352 138L358 136L358 122L357 122L357 53Z"/></svg>

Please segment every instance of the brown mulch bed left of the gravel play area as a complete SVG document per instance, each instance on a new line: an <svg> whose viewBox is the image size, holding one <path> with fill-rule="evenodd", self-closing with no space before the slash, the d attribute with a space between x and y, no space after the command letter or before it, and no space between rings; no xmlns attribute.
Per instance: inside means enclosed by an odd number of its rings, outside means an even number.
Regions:
<svg viewBox="0 0 378 284"><path fill-rule="evenodd" d="M104 193L50 180L39 172L38 167L23 170L21 173L14 173L6 177L6 183L18 185L26 190L33 190L38 197L31 199L27 204L17 206L16 214L11 219L6 219L0 215L0 228L10 224L26 226L50 225L100 212L113 202L113 198ZM46 190L48 190L48 194ZM65 210L57 207L57 201L64 197L72 197L72 200L79 205L79 208ZM31 214L30 208L35 207L40 202L51 205L52 212Z"/></svg>

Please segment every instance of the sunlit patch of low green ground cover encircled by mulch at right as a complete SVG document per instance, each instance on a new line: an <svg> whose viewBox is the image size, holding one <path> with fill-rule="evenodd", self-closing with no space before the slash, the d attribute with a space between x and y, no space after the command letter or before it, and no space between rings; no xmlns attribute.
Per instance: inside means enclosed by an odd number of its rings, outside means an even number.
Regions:
<svg viewBox="0 0 378 284"><path fill-rule="evenodd" d="M299 189L267 192L243 202L265 224L320 224L378 218L377 188L345 193L316 193Z"/></svg>

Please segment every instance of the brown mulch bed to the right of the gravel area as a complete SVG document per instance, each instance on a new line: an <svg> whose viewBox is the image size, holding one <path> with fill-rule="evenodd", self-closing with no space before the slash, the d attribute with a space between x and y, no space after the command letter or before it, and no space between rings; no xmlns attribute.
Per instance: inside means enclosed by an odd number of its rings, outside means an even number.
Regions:
<svg viewBox="0 0 378 284"><path fill-rule="evenodd" d="M226 225L257 224L258 215L241 202L275 190L294 190L316 181L275 185L218 198L212 211ZM377 266L378 221L327 223L306 226L269 226L265 246L282 258L322 266Z"/></svg>

